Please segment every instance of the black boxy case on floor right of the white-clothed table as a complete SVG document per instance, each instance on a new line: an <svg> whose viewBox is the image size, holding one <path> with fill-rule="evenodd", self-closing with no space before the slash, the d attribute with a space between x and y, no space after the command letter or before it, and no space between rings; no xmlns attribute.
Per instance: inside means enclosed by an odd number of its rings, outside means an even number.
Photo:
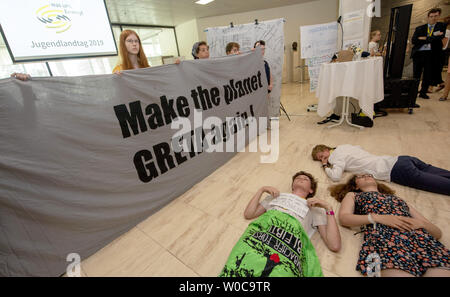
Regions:
<svg viewBox="0 0 450 297"><path fill-rule="evenodd" d="M416 105L419 80L415 78L391 78L384 81L384 100L375 104L380 108L408 108L409 113Z"/></svg>

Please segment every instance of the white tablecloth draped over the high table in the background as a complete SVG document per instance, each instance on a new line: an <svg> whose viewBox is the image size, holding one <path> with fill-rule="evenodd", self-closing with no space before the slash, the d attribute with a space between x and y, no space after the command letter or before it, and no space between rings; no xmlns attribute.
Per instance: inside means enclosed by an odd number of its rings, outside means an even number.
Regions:
<svg viewBox="0 0 450 297"><path fill-rule="evenodd" d="M373 105L384 99L383 58L320 65L316 90L319 116L332 111L340 96L357 99L362 111L373 118Z"/></svg>

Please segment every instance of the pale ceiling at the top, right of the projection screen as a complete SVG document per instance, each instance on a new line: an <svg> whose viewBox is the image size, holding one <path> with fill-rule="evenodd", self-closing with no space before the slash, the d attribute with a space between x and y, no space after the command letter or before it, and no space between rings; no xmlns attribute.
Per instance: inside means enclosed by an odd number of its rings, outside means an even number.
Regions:
<svg viewBox="0 0 450 297"><path fill-rule="evenodd" d="M176 26L195 18L275 8L315 0L106 0L112 23Z"/></svg>

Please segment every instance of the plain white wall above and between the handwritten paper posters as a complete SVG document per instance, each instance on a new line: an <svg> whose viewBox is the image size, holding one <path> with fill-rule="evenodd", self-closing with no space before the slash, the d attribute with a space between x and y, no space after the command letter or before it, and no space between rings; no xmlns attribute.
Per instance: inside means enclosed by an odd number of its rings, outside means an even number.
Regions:
<svg viewBox="0 0 450 297"><path fill-rule="evenodd" d="M292 81L292 43L296 41L300 48L300 26L321 24L336 21L338 18L339 0L315 0L303 4L289 5L271 9L254 10L250 12L214 16L197 19L198 40L206 40L204 30L208 27L227 26L252 23L255 19L268 21L277 18L286 20L284 41L288 81ZM177 31L177 37L180 39ZM255 40L256 41L256 40ZM193 42L191 43L192 47Z"/></svg>

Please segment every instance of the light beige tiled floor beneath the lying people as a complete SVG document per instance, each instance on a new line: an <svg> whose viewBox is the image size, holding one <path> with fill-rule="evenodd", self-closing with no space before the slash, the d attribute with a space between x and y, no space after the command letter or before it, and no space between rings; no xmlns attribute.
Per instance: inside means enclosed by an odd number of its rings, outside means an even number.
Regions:
<svg viewBox="0 0 450 297"><path fill-rule="evenodd" d="M373 128L347 125L327 129L317 125L316 103L307 84L283 85L282 102L292 121L280 118L280 155L276 163L261 164L260 153L239 153L158 213L82 262L86 276L217 276L229 252L247 227L243 211L264 185L290 190L291 176L305 170L319 180L317 197L339 211L327 191L332 184L310 156L315 144L358 144L374 154L413 155L450 169L450 101L418 99L413 115L391 110L375 119ZM438 225L441 242L450 247L450 197L390 184L398 196ZM342 249L330 252L316 233L312 242L325 276L360 276L355 265L362 236L340 227Z"/></svg>

